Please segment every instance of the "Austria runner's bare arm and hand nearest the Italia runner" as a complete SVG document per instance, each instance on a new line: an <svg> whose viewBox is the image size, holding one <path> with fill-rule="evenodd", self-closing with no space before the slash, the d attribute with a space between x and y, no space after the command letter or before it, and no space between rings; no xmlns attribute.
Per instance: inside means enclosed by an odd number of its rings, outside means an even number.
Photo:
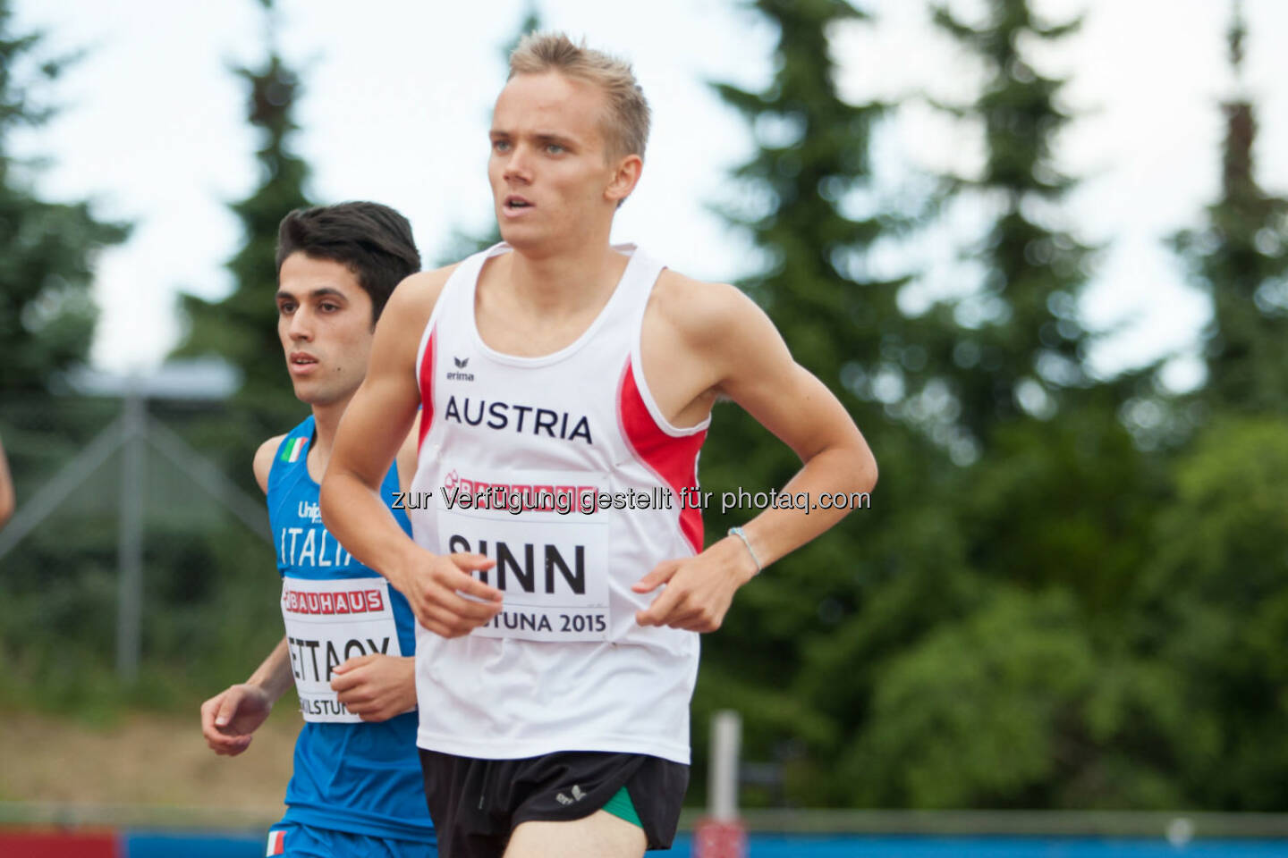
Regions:
<svg viewBox="0 0 1288 858"><path fill-rule="evenodd" d="M340 419L322 479L322 521L359 561L389 579L416 619L443 637L469 634L501 610L501 592L471 571L482 554L434 554L413 543L380 498L380 484L416 417L416 347L450 269L413 274L394 289L376 325L367 377ZM460 596L468 593L483 602Z"/></svg>

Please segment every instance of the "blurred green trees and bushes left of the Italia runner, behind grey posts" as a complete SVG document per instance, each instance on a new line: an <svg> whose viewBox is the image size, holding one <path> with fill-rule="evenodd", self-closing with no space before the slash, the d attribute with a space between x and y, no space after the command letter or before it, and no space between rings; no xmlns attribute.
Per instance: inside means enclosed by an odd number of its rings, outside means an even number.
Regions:
<svg viewBox="0 0 1288 858"><path fill-rule="evenodd" d="M8 3L0 0L0 373L14 373L4 377L0 437L19 517L52 484L68 477L76 482L53 515L0 561L0 655L9 666L0 705L21 702L91 720L112 718L130 704L189 709L211 686L245 678L281 638L273 549L182 467L157 455L156 443L148 446L140 475L147 499L143 665L137 682L121 682L113 641L128 464L113 443L124 428L117 419L124 388L85 395L77 370L85 368L95 319L89 295L93 256L124 241L128 228L99 223L86 203L35 198L19 181L23 165L5 157L4 132L46 121L52 112L37 99L71 66L68 58L40 57L40 33L12 32ZM272 296L277 221L305 205L299 187L307 167L282 143L294 130L292 73L276 51L263 68L236 73L247 85L249 120L264 129L259 160L268 179L264 189L233 206L247 237L229 262L238 288L220 302L184 298L192 334L180 354L216 354L240 370L242 385L227 404L180 390L149 401L147 410L160 423L153 437L164 434L187 443L183 453L194 462L200 450L234 484L259 494L251 454L270 434L267 427L281 426L286 414L299 419L301 412L294 397L281 396ZM268 349L272 360L265 359ZM91 449L103 455L77 459ZM19 517L10 529L22 524Z"/></svg>

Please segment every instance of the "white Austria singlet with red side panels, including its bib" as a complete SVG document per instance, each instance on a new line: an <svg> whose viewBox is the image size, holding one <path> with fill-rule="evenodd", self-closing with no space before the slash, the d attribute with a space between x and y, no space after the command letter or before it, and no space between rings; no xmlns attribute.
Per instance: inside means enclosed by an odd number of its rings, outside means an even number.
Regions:
<svg viewBox="0 0 1288 858"><path fill-rule="evenodd" d="M710 418L676 428L640 363L662 265L634 246L612 297L572 345L541 358L493 351L474 296L486 260L452 273L417 352L422 415L408 516L431 552L497 561L477 574L504 611L469 635L416 629L421 747L514 759L618 751L689 762L698 635L644 628L659 590L631 584L702 551L698 450ZM693 497L693 495L688 495Z"/></svg>

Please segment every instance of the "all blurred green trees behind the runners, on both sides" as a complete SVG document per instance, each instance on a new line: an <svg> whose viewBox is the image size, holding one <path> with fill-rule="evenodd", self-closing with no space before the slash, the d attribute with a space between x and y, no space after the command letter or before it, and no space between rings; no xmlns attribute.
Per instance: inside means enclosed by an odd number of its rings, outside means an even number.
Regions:
<svg viewBox="0 0 1288 858"><path fill-rule="evenodd" d="M1257 181L1251 95L1240 84L1221 105L1220 197L1172 242L1213 307L1206 383L1177 395L1158 364L1103 377L1090 361L1097 334L1081 302L1100 248L1073 226L1077 179L1055 157L1078 117L1063 107L1069 81L1034 58L1075 37L1078 21L1043 21L1030 0L984 0L970 19L931 5L978 64L974 98L940 107L979 135L983 160L935 178L909 210L887 199L872 156L900 104L845 100L829 40L880 21L845 0L746 8L777 33L774 73L759 91L714 84L756 141L714 202L764 262L739 286L855 417L882 476L869 509L766 570L703 641L689 803L705 800L708 715L734 707L750 805L1282 810L1288 199ZM40 93L63 66L12 33L5 10L0 0L0 436L26 498L118 409L72 395L66 378L85 360L93 253L125 226L36 199L5 157L5 131L45 116ZM537 22L535 8L526 15L518 32ZM233 289L184 297L176 352L220 356L240 386L215 408L153 405L249 489L255 446L304 413L272 302L277 223L309 205L301 84L270 8L267 21L265 59L234 69L261 180L232 206L243 226ZM1238 72L1238 13L1227 41ZM960 248L978 282L909 313L899 298L925 274L918 242L952 211L978 224ZM456 234L453 255L495 241L470 235ZM909 260L896 275L875 262L890 247ZM104 652L112 462L3 560L0 646L15 669L0 702L35 689L68 711L191 706L243 678L279 634L270 548L214 504L166 503L182 490L158 467L149 498L167 508L149 507L147 669L121 688ZM717 406L707 490L781 486L797 467ZM710 509L708 540L747 516Z"/></svg>

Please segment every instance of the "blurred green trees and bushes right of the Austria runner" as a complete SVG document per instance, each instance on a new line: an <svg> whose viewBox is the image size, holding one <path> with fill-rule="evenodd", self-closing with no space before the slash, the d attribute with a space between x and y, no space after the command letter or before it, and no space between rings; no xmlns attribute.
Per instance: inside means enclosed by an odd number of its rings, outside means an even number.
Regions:
<svg viewBox="0 0 1288 858"><path fill-rule="evenodd" d="M1176 242L1217 307L1209 381L1176 397L1157 365L1088 365L1078 307L1096 251L1068 225L1075 180L1054 157L1075 117L1066 81L1029 57L1078 21L1043 22L1028 0L970 22L934 6L983 71L976 100L945 109L984 144L934 210L971 206L985 225L962 248L978 287L909 316L896 296L917 271L868 274L875 243L908 234L869 169L873 123L896 105L844 103L828 60L829 27L862 13L752 5L778 27L774 80L719 86L760 140L734 179L761 207L726 208L768 260L742 286L854 414L882 477L871 511L739 593L706 642L696 723L744 713L764 801L1282 809L1265 731L1285 705L1267 647L1288 592L1271 453L1288 223L1253 178L1251 103L1225 105L1211 226ZM1235 63L1242 37L1236 23ZM782 485L792 457L733 412L717 409L703 482ZM716 535L733 524L715 518Z"/></svg>

